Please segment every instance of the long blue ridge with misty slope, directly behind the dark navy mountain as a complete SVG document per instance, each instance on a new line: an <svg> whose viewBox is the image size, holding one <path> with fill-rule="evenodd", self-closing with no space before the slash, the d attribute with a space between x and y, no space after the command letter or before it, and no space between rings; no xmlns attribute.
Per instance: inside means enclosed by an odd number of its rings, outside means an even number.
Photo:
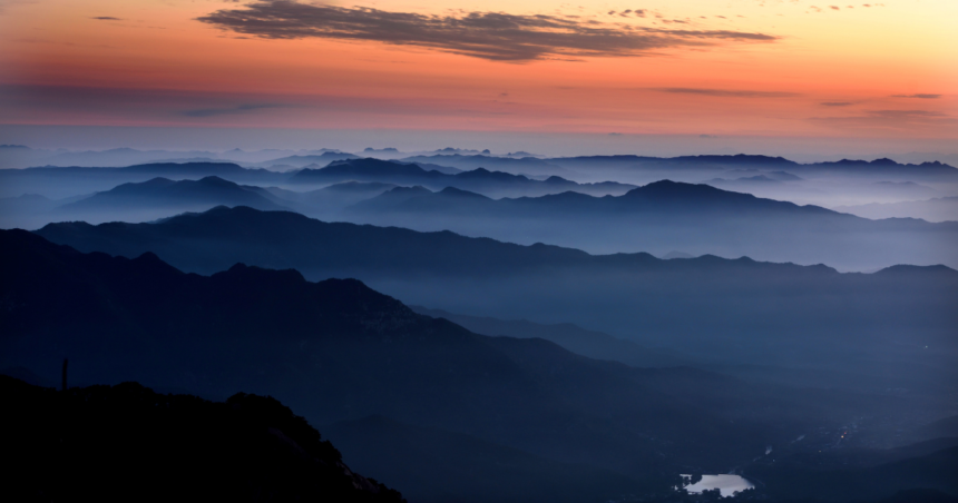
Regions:
<svg viewBox="0 0 958 503"><path fill-rule="evenodd" d="M295 268L311 279L359 278L410 304L574 323L696 361L737 365L734 372L751 377L908 387L916 396L938 396L955 377L948 362L958 354L950 331L958 273L944 266L841 274L821 265L708 255L589 255L244 207L155 224L53 224L37 234L81 251L153 251L202 274L244 263ZM862 352L870 358L854 356Z"/></svg>

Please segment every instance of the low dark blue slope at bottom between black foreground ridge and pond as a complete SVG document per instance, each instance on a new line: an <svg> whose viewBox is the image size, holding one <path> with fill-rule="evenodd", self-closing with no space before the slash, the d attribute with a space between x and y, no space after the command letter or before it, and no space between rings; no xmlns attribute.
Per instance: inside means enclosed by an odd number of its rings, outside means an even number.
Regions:
<svg viewBox="0 0 958 503"><path fill-rule="evenodd" d="M471 435L417 427L372 416L324 428L346 452L363 460L363 473L394 486L416 487L411 501L584 502L620 496L635 483L589 465L557 463ZM449 460L459 460L450 463Z"/></svg>

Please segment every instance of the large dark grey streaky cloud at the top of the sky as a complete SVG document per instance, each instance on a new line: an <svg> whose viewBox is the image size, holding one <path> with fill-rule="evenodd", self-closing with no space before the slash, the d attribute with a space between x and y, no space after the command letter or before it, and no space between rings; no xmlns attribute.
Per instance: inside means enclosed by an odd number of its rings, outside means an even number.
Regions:
<svg viewBox="0 0 958 503"><path fill-rule="evenodd" d="M265 39L377 41L493 61L531 61L557 56L647 56L668 48L773 42L779 39L744 31L639 28L546 14L466 12L428 16L291 0L258 1L240 9L217 10L197 20Z"/></svg>

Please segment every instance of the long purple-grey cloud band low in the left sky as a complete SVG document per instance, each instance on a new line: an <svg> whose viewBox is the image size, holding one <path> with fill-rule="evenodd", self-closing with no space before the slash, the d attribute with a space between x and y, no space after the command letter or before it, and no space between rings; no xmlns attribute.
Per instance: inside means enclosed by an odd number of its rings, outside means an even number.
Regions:
<svg viewBox="0 0 958 503"><path fill-rule="evenodd" d="M264 121L353 127L377 117L405 125L410 117L488 118L514 114L515 107L486 99L383 98L372 96L228 92L150 88L0 83L0 110L8 121L114 121L226 126ZM84 122L86 124L86 122Z"/></svg>

